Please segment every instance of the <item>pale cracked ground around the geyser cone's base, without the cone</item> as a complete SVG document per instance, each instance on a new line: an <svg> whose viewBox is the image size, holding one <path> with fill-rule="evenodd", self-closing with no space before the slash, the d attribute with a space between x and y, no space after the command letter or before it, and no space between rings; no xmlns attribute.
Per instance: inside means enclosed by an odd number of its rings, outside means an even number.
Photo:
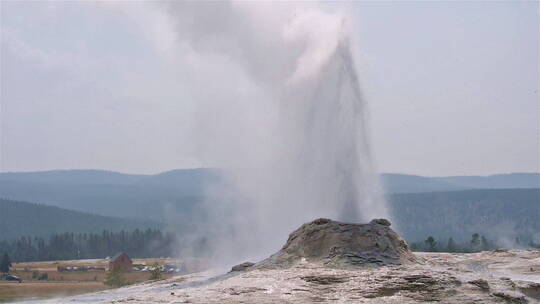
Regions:
<svg viewBox="0 0 540 304"><path fill-rule="evenodd" d="M416 255L421 263L367 269L302 261L192 274L49 303L540 303L540 250Z"/></svg>

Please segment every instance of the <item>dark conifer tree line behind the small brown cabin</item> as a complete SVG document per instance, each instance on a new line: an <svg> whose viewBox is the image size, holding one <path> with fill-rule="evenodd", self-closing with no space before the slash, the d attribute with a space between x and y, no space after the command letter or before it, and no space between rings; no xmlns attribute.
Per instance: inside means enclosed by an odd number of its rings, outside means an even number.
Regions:
<svg viewBox="0 0 540 304"><path fill-rule="evenodd" d="M174 256L177 238L159 229L102 233L61 233L49 238L23 236L0 241L0 254L11 262L101 259L125 252L131 257L152 258Z"/></svg>

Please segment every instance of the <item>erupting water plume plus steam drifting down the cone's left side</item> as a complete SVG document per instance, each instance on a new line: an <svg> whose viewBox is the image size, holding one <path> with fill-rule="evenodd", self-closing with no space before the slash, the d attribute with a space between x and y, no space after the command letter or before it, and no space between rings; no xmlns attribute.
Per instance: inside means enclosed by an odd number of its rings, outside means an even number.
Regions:
<svg viewBox="0 0 540 304"><path fill-rule="evenodd" d="M289 78L265 157L232 168L246 195L238 209L253 220L249 232L265 244L301 222L333 218L368 222L388 218L374 171L365 103L346 40L303 78ZM252 213L249 213L251 211ZM260 242L251 239L250 242ZM268 250L265 248L266 251Z"/></svg>

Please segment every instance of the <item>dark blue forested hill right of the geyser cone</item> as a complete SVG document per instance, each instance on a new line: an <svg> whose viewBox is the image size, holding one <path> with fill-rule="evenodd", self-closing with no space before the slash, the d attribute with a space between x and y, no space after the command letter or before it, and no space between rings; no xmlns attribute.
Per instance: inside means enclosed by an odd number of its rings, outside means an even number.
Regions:
<svg viewBox="0 0 540 304"><path fill-rule="evenodd" d="M393 226L408 241L463 241L480 233L502 244L516 238L540 242L540 189L401 193L388 201Z"/></svg>

